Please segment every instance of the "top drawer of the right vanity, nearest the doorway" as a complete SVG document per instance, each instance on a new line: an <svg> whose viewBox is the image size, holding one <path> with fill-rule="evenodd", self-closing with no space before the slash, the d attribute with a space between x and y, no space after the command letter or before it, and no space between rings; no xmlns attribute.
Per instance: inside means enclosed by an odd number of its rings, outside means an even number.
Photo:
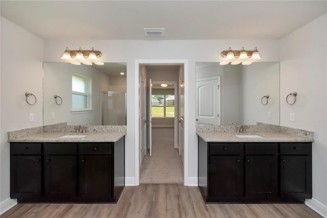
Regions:
<svg viewBox="0 0 327 218"><path fill-rule="evenodd" d="M238 155L243 153L243 143L210 143L210 155Z"/></svg>

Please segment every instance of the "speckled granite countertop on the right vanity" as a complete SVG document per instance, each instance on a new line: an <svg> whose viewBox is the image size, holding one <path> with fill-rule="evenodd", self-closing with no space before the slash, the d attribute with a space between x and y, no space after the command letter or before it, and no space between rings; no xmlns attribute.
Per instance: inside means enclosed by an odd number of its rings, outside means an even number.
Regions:
<svg viewBox="0 0 327 218"><path fill-rule="evenodd" d="M313 142L312 139L283 132L237 134L235 132L197 132L206 142ZM258 135L263 138L239 138L236 135Z"/></svg>

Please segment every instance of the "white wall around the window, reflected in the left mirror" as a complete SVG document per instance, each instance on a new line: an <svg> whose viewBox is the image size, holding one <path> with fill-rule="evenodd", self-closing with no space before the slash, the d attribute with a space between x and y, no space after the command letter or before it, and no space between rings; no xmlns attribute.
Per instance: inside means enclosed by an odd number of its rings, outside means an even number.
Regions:
<svg viewBox="0 0 327 218"><path fill-rule="evenodd" d="M91 104L93 111L71 112L73 74L79 74L91 79ZM44 125L61 122L67 122L68 125L81 125L88 122L92 123L92 125L101 124L101 91L108 91L101 90L101 88L110 88L108 75L97 68L84 64L76 66L70 63L44 63L43 85ZM62 98L61 105L55 103L54 95L59 95ZM52 112L55 113L55 119L51 119Z"/></svg>

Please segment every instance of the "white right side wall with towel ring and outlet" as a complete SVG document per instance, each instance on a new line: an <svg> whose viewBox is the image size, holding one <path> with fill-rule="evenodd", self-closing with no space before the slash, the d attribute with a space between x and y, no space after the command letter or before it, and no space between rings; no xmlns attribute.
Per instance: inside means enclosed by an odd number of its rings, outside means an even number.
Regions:
<svg viewBox="0 0 327 218"><path fill-rule="evenodd" d="M281 125L314 131L313 198L327 211L327 14L280 40ZM296 103L285 101L297 92ZM290 122L295 113L295 122ZM327 213L325 213L327 216Z"/></svg>

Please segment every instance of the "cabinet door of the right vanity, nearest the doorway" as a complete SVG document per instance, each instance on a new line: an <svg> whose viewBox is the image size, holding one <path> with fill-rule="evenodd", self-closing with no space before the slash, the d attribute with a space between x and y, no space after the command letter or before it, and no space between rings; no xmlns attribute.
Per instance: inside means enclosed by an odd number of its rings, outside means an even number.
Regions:
<svg viewBox="0 0 327 218"><path fill-rule="evenodd" d="M243 157L209 156L209 199L229 200L243 196Z"/></svg>

